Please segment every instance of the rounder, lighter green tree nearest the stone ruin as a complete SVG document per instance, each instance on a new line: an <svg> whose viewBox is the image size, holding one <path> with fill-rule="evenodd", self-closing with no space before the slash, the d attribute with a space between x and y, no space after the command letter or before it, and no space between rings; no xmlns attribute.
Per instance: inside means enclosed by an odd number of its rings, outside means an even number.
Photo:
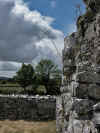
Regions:
<svg viewBox="0 0 100 133"><path fill-rule="evenodd" d="M50 94L52 89L54 89L51 85L57 83L56 78L61 79L61 70L51 60L42 59L36 66L35 71L38 84L45 85L47 94Z"/></svg>

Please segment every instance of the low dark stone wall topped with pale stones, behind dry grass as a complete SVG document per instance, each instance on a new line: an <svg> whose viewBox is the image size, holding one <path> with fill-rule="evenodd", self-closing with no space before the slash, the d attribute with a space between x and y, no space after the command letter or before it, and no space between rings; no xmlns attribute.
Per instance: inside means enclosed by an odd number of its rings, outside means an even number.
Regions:
<svg viewBox="0 0 100 133"><path fill-rule="evenodd" d="M56 97L0 95L0 120L54 120Z"/></svg>

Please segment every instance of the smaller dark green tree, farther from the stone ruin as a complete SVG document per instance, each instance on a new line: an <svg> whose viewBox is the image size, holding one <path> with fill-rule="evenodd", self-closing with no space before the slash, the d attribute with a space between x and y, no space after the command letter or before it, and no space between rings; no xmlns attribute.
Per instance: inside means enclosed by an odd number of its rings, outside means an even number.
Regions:
<svg viewBox="0 0 100 133"><path fill-rule="evenodd" d="M14 79L24 88L24 92L26 92L26 87L32 84L34 79L34 68L32 65L22 64L20 70L16 73Z"/></svg>

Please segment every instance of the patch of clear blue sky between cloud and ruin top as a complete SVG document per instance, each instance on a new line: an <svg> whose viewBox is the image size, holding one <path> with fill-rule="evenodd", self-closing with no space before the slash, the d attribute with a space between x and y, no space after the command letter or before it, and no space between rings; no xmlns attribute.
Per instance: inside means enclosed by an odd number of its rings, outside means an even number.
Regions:
<svg viewBox="0 0 100 133"><path fill-rule="evenodd" d="M82 13L85 6L82 0L24 0L29 3L31 10L37 10L44 16L55 19L52 26L61 30L66 36L74 30L75 25L75 6L81 5ZM72 27L72 28L71 28Z"/></svg>

